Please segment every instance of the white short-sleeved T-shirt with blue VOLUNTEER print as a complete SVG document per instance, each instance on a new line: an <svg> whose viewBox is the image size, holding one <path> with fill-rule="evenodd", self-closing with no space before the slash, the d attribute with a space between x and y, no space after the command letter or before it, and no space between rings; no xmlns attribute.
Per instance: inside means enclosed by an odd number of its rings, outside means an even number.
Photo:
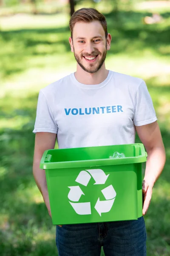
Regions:
<svg viewBox="0 0 170 256"><path fill-rule="evenodd" d="M59 148L135 142L135 126L157 120L142 79L109 71L100 84L71 73L40 90L34 133L57 134Z"/></svg>

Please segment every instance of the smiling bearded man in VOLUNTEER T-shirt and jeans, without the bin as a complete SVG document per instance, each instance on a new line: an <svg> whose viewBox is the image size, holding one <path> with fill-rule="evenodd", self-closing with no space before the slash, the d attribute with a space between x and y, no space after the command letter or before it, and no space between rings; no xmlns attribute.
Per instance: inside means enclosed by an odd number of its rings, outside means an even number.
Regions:
<svg viewBox="0 0 170 256"><path fill-rule="evenodd" d="M77 71L40 90L34 133L33 173L51 215L45 172L39 169L45 150L130 144L137 131L147 150L143 181L143 215L153 185L165 163L164 145L146 84L142 79L105 69L111 35L105 17L83 8L70 20L69 43ZM146 231L138 220L59 225L59 256L145 256Z"/></svg>

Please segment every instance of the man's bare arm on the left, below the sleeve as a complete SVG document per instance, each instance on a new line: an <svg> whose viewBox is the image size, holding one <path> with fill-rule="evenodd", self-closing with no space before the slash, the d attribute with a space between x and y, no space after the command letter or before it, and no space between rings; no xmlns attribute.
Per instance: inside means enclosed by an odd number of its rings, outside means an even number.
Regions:
<svg viewBox="0 0 170 256"><path fill-rule="evenodd" d="M56 142L56 134L50 132L37 132L35 135L34 147L34 161L33 161L33 175L35 182L40 189L49 215L51 216L51 209L48 197L47 183L45 177L45 170L40 169L40 160L45 150L53 149Z"/></svg>

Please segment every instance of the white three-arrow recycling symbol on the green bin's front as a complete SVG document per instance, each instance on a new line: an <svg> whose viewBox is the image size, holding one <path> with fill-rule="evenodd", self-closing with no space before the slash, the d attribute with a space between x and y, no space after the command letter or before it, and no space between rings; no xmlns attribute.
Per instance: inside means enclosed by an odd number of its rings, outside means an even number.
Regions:
<svg viewBox="0 0 170 256"><path fill-rule="evenodd" d="M79 184L87 186L91 177L93 177L95 180L94 185L99 185L99 184L105 184L108 176L109 174L105 175L105 172L103 172L102 169L90 169L90 170L81 171L75 181ZM81 196L85 195L82 192L82 189L79 186L69 186L68 188L70 189L68 193L68 199L70 199L73 202L77 202L77 203L72 203L69 201L71 206L74 208L75 212L79 215L91 214L90 202L85 202L85 203L78 202ZM116 191L114 190L112 185L105 187L105 189L102 189L101 191L106 200L100 201L100 198L98 198L94 207L100 216L103 212L109 212L111 210L116 197Z"/></svg>

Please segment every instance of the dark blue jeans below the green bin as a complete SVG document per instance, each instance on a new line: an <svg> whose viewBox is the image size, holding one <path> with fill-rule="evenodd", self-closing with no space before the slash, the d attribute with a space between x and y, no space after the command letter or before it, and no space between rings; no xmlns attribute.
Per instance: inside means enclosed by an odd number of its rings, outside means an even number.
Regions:
<svg viewBox="0 0 170 256"><path fill-rule="evenodd" d="M146 256L144 218L57 226L56 244L59 256Z"/></svg>

